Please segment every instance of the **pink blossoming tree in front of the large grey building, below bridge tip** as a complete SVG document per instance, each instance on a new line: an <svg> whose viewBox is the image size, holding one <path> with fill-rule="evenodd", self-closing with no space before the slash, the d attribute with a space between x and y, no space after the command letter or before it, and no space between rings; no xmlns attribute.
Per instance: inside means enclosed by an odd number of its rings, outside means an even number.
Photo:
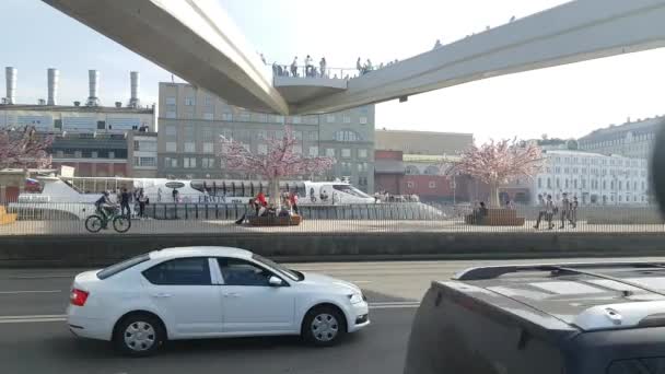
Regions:
<svg viewBox="0 0 665 374"><path fill-rule="evenodd" d="M270 183L270 197L279 196L279 183L282 178L320 174L335 163L331 157L306 157L293 152L299 140L290 127L284 128L282 139L267 140L266 154L252 153L245 144L232 139L222 137L221 141L219 155L225 167L267 178Z"/></svg>

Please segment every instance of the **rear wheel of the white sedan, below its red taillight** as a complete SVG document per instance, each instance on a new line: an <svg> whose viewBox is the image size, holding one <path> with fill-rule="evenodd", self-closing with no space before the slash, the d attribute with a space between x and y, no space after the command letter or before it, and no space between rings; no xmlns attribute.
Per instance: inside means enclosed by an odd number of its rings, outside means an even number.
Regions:
<svg viewBox="0 0 665 374"><path fill-rule="evenodd" d="M153 354L166 340L162 322L148 314L135 314L124 318L114 334L118 351L131 357Z"/></svg>

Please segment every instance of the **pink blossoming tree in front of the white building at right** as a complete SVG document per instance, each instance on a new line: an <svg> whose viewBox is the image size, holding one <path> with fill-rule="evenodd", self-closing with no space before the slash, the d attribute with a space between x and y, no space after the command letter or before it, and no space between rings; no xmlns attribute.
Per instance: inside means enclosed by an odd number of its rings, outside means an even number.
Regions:
<svg viewBox="0 0 665 374"><path fill-rule="evenodd" d="M517 177L532 178L542 168L540 149L530 143L501 140L471 145L462 152L460 161L448 167L446 174L458 172L490 186L490 207L499 208L499 187Z"/></svg>

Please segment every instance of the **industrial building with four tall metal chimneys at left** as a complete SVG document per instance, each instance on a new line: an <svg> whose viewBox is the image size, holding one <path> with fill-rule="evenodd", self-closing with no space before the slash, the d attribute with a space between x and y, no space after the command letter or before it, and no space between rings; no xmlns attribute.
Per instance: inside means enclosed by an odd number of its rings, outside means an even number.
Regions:
<svg viewBox="0 0 665 374"><path fill-rule="evenodd" d="M52 165L73 166L77 176L133 176L133 172L139 170L142 176L156 176L156 136L150 136L156 131L155 107L141 106L140 75L136 71L129 75L131 95L126 103L103 106L100 72L90 70L88 97L61 105L58 101L60 72L48 69L47 98L27 104L16 102L20 89L18 69L8 67L7 95L0 105L0 128L33 126L42 135L51 135ZM147 139L137 140L135 133ZM135 157L136 141L153 141L155 151L151 155L137 154ZM150 149L149 145L144 148Z"/></svg>

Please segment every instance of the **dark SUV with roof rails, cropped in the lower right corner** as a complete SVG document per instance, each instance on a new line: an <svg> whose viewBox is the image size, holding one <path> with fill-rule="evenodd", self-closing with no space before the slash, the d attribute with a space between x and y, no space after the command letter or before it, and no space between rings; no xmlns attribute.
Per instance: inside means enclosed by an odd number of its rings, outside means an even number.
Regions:
<svg viewBox="0 0 665 374"><path fill-rule="evenodd" d="M665 264L480 267L432 282L405 374L665 373Z"/></svg>

